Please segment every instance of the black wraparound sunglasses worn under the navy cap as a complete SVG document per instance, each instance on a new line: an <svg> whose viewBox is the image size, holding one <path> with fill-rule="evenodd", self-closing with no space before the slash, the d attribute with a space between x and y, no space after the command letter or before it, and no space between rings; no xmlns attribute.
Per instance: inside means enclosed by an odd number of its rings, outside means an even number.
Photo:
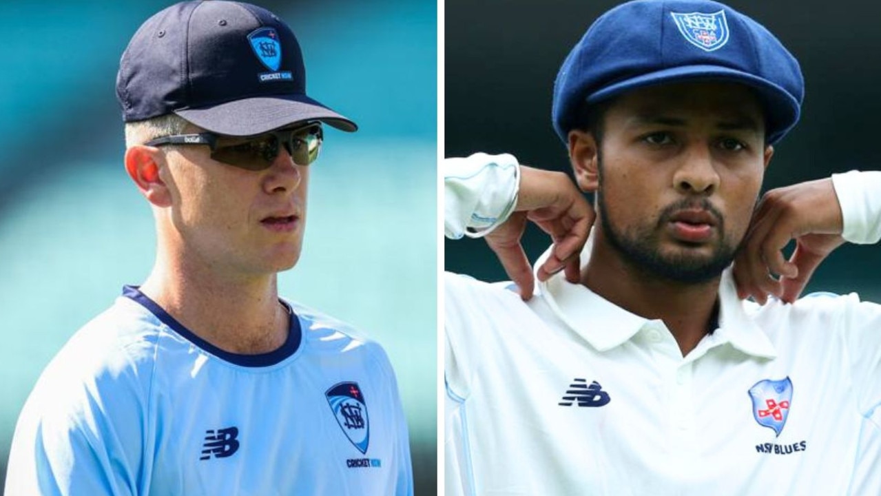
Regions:
<svg viewBox="0 0 881 496"><path fill-rule="evenodd" d="M268 169L278 157L279 144L285 147L294 163L307 166L318 159L324 133L321 122L308 122L290 130L278 130L251 137L233 137L211 132L158 137L147 146L163 144L207 144L211 159L249 171Z"/></svg>

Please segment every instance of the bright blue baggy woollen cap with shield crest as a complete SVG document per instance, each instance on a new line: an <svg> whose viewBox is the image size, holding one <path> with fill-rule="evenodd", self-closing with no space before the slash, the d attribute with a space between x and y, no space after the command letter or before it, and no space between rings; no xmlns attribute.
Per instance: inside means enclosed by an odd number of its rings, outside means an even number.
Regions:
<svg viewBox="0 0 881 496"><path fill-rule="evenodd" d="M554 130L566 143L591 104L693 80L751 86L765 110L768 144L798 122L802 70L764 26L709 0L636 0L596 19L566 56L554 84Z"/></svg>

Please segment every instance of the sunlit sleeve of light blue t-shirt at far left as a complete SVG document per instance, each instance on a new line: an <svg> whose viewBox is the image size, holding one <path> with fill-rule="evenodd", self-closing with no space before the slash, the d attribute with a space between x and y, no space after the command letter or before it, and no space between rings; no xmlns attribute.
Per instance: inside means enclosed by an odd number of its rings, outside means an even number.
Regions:
<svg viewBox="0 0 881 496"><path fill-rule="evenodd" d="M144 403L121 359L93 374L56 360L19 415L7 495L133 496L143 476Z"/></svg>

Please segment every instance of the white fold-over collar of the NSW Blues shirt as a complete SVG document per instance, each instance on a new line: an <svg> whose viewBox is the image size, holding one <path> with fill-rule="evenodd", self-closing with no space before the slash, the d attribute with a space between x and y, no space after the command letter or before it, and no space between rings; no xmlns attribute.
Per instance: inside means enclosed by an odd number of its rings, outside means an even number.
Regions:
<svg viewBox="0 0 881 496"><path fill-rule="evenodd" d="M592 245L593 236L581 250L583 263L590 259ZM534 267L544 263L551 249L538 257ZM584 285L569 283L563 272L539 282L538 289L552 312L598 352L626 343L649 322L655 322L618 307ZM719 301L719 329L714 332L714 344L728 343L740 352L759 358L777 356L774 344L747 314L744 305L748 303L737 298L730 267L722 273Z"/></svg>

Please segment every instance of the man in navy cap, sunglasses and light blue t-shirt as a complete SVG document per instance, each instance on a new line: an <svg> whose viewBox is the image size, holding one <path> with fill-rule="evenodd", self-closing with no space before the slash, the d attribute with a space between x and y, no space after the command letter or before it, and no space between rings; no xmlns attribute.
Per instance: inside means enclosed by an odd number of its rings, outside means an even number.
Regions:
<svg viewBox="0 0 881 496"><path fill-rule="evenodd" d="M156 262L42 374L5 493L412 494L385 352L278 297L324 124L357 129L307 96L291 29L175 4L135 33L116 93Z"/></svg>

